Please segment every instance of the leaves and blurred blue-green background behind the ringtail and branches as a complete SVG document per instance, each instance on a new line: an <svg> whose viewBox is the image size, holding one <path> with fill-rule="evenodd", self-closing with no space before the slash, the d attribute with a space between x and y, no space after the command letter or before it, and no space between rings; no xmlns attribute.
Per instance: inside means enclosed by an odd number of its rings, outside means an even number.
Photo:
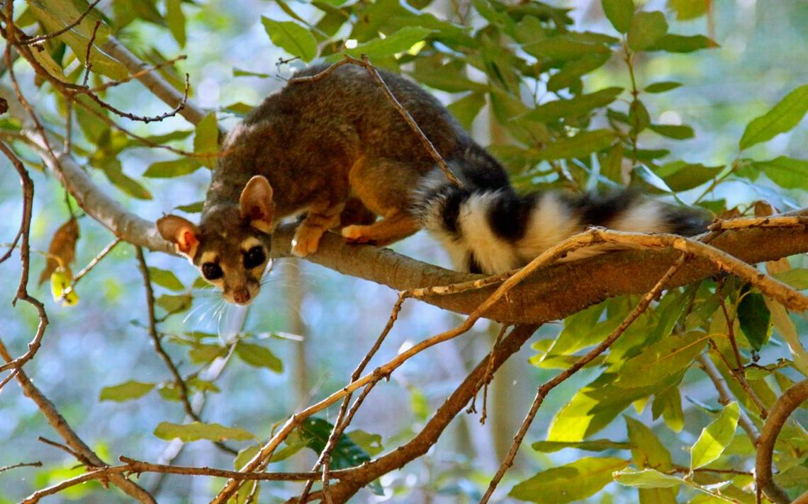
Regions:
<svg viewBox="0 0 808 504"><path fill-rule="evenodd" d="M604 5L614 9L608 18ZM479 142L490 145L520 189L608 190L630 184L671 201L699 204L714 215L751 213L752 203L761 200L775 210L805 206L808 168L800 158L806 157L806 127L789 128L785 134L758 142L747 138L745 131L751 119L764 115L808 81L808 3L649 0L637 6L642 15L633 17L621 12L622 5L625 2L602 4L600 0L512 4L103 0L97 7L103 12L98 44L104 36L114 35L152 64L187 55L160 72L179 90L183 73L188 73L191 101L215 114L215 119L210 116L196 127L179 116L135 123L112 117L90 102L79 103L74 106L74 155L94 181L137 215L156 219L181 206L193 218L209 180L203 163L149 148L109 127L94 112L155 143L206 152L215 148L217 122L226 129L233 127L246 110L284 85L294 69L311 61L339 60L343 52L366 53L373 64L406 73L436 94ZM64 26L86 6L83 0L18 1L15 13L19 26L36 34ZM84 55L79 48L86 46L87 27L91 31L93 23L88 16L76 30L44 44L40 57L49 58L52 66L48 68L63 72L66 80L80 82ZM292 56L297 57L290 60ZM125 75L115 60L94 57L90 85ZM24 62L17 63L15 70L23 93L48 130L65 135L65 99L35 77ZM7 73L3 79L7 87ZM137 115L166 110L137 83L104 90L103 98ZM795 110L804 107L800 103ZM802 114L797 123L801 118ZM0 118L0 134L14 141L19 156L32 169L36 181L32 245L45 251L57 227L69 219L69 207L61 185L42 171L36 152L15 136L19 126L19 119ZM5 159L0 162L6 165L0 170L0 211L9 216L0 221L0 235L10 240L19 223L21 199L15 172ZM765 206L759 203L757 208ZM88 217L78 223L81 235L74 269L113 239ZM448 265L444 252L423 234L393 248ZM157 284L158 317L164 318L159 326L165 334L163 344L196 393L194 405L202 407L200 415L205 422L242 429L257 439L265 439L292 410L346 383L396 299L387 287L343 277L306 261L279 260L260 298L244 313L223 306L220 296L203 287L195 272L176 258L148 254L146 260ZM44 264L44 256L35 255L33 271L38 273ZM802 266L802 257L781 264L782 269L791 269L793 285L799 288L808 286ZM6 278L6 288L0 290L4 321L0 335L16 355L36 327L36 314L27 306L11 306L19 262L0 264L0 277ZM672 290L598 364L619 374L623 360L659 344L671 331L726 332L726 323L720 327L722 318L712 317L718 311L715 289L714 281L705 281ZM741 289L732 281L724 286L733 310L743 302ZM47 284L36 291L46 301L51 325L26 370L78 434L106 460L123 454L141 460L232 467L233 456L208 441L183 445L160 437L170 439L176 434L170 424L187 419L176 402L170 374L147 335L145 293L132 246L118 244L75 291L75 306L53 302ZM682 314L688 297L695 300L693 317ZM635 301L617 298L566 323L541 327L532 348L526 346L497 373L485 425L478 423L476 414L461 414L429 456L385 475L379 485L363 490L357 502L478 500L536 386L555 369L568 365L572 353L597 341ZM768 317L765 306L758 311L761 318ZM406 305L372 364L459 320L432 306ZM802 320L797 323L804 334ZM777 364L778 369L755 375L755 387L768 403L799 377L790 360L780 360L792 358L780 333L774 331L768 339L770 325L767 318L762 329L742 327L747 337L741 340L747 362L754 355L760 356L761 365L783 363L781 369ZM393 373L368 398L351 426L352 439L370 455L381 445L394 448L409 439L489 351L498 330L494 324L478 323L470 334L418 356ZM688 370L691 363L692 358L678 369L667 370L646 389L629 389L631 394L616 392L615 385L605 383L611 375L603 368L587 368L567 381L542 406L516 466L500 485L499 498L507 500L505 494L511 489L515 500L549 498L548 489L541 485L531 489L532 480L527 478L564 464L591 463L587 456L607 462L629 460L625 445L608 444L601 453L553 451L562 445L529 446L545 439L577 442L596 433L597 438L618 442L656 436L669 452L667 459L662 456L667 460L664 464L688 466L688 447L703 427L722 418L717 417L721 406L712 385L695 366ZM126 385L116 388L121 384ZM579 393L584 386L594 393ZM749 398L742 390L737 392L742 406L754 413ZM600 405L600 410L595 414L584 410L591 404ZM625 420L618 418L621 413ZM335 410L326 411L322 419L332 419L334 414ZM797 417L805 425L805 410ZM34 489L82 471L64 452L36 442L38 435L53 434L36 406L14 384L2 390L0 419L4 448L0 466L31 460L44 463L42 468L0 473L0 502L16 502ZM298 435L297 443L298 448L306 445L305 432ZM789 443L791 458L783 456L778 463L781 470L793 469L793 481L786 486L798 494L808 481L808 439L794 427ZM255 439L229 444L249 448ZM289 452L294 451L293 442L288 446ZM656 445L647 441L647 446ZM642 468L642 456L633 455L634 464ZM710 467L749 470L753 458L751 444L739 430ZM271 469L307 470L315 459L314 451L303 450ZM552 475L540 473L537 479L549 481ZM730 480L730 490L737 490L733 498L753 502L751 478L742 475L721 481ZM146 488L159 489L159 502L206 502L221 485L221 480L206 477L154 474L140 481ZM524 483L515 488L520 481ZM608 481L610 476L602 483L589 482L595 485L589 494L596 493L590 502L636 501L636 489ZM662 498L668 500L647 500L648 494L643 500L713 502L695 489L675 488L663 492ZM280 502L296 489L291 484L263 485L260 502ZM588 491L578 497L587 498ZM126 502L120 492L104 491L95 483L70 489L58 499Z"/></svg>

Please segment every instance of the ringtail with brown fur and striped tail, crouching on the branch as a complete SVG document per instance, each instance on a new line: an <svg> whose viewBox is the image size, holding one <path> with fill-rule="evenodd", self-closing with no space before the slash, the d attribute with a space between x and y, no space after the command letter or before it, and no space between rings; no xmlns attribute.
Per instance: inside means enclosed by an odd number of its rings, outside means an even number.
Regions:
<svg viewBox="0 0 808 504"><path fill-rule="evenodd" d="M295 77L325 69L316 65ZM377 245L426 227L457 269L474 273L524 264L591 224L701 230L688 210L629 192L517 194L502 165L436 98L404 77L380 73L463 187L448 181L364 69L343 65L316 81L290 83L226 137L200 224L176 215L157 222L162 237L227 301L255 298L272 231L303 213L292 240L296 256L315 252L323 233L338 226L349 242Z"/></svg>

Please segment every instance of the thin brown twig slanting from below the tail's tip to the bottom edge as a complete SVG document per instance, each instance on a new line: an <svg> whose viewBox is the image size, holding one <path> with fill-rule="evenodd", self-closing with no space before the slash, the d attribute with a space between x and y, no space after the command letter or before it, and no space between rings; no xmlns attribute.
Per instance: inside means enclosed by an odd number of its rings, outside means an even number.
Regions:
<svg viewBox="0 0 808 504"><path fill-rule="evenodd" d="M671 277L675 275L677 271L682 267L686 260L688 260L688 254L683 253L679 256L679 259L675 261L671 268L665 272L665 274L657 281L656 285L654 285L653 289L650 289L648 293L642 297L638 305L629 313L629 315L621 322L619 326L617 326L614 331L606 339L600 342L598 346L592 348L586 355L581 357L579 360L576 360L574 364L572 364L569 368L562 371L562 373L558 373L555 377L551 380L545 382L544 385L541 385L536 393L536 398L533 399L533 403L530 406L530 410L528 410L528 414L525 415L524 420L519 428L519 431L516 432L516 435L513 438L513 444L511 444L511 449L507 452L502 464L499 465L499 469L494 477L491 479L488 489L486 489L486 493L480 499L480 504L485 504L491 498L491 495L494 494L494 489L496 489L499 481L505 475L507 469L511 467L513 464L513 459L516 456L516 452L519 451L519 447L522 444L522 439L524 439L524 435L528 433L528 427L533 422L533 419L536 417L537 411L541 406L541 403L544 402L545 397L549 394L550 390L554 389L558 384L562 383L562 381L566 381L567 378L571 377L574 373L576 373L579 369L583 368L583 366L589 364L595 357L600 356L603 352L605 352L611 345L614 343L617 338L619 338L625 330L636 320L642 313L646 311L650 302L657 298L659 294L663 291L667 282L671 280Z"/></svg>

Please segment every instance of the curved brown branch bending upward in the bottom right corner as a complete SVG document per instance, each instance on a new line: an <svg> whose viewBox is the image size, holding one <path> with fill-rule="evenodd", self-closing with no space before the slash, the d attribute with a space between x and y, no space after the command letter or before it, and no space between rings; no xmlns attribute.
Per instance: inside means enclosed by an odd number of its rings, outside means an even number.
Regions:
<svg viewBox="0 0 808 504"><path fill-rule="evenodd" d="M772 480L774 444L777 435L780 435L783 425L789 419L789 415L806 401L808 401L808 379L791 385L783 395L777 398L758 438L755 457L755 485L757 485L759 496L760 492L763 492L768 499L777 504L790 502L791 499L785 490Z"/></svg>

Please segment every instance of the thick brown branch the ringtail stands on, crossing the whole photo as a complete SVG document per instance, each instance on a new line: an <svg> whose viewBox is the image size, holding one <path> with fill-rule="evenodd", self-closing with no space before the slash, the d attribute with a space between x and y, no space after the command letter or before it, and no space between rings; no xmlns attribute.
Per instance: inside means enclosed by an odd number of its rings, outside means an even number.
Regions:
<svg viewBox="0 0 808 504"><path fill-rule="evenodd" d="M36 131L25 131L48 165L48 157ZM70 156L61 156L62 182L76 196L88 215L109 228L116 236L132 244L159 252L172 252L158 235L157 228L141 217L124 210L104 194ZM55 172L58 174L58 172ZM802 210L798 215L808 215ZM272 256L290 255L293 227L280 227L272 237ZM802 227L750 227L723 231L711 245L747 263L776 260L808 252L808 231ZM679 252L675 250L611 252L541 269L511 291L511 295L492 306L486 317L507 323L543 323L563 319L604 299L622 294L645 294L662 277ZM482 278L424 264L388 248L345 244L333 233L323 236L320 248L306 257L340 273L388 285L397 290L431 285L449 285ZM685 285L719 273L709 260L694 257L673 277L671 287ZM570 289L574 285L574 289ZM471 313L488 298L496 285L457 294L427 295L422 299L458 313Z"/></svg>

